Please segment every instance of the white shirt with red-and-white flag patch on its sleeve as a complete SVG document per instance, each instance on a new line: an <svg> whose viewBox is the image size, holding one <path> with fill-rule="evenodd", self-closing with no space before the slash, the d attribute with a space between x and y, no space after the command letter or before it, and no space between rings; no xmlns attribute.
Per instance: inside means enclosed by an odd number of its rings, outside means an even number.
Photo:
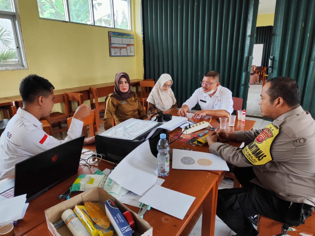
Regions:
<svg viewBox="0 0 315 236"><path fill-rule="evenodd" d="M72 119L65 140L60 141L43 131L42 122L19 108L0 137L0 180L14 175L14 167L27 158L81 137L83 121Z"/></svg>

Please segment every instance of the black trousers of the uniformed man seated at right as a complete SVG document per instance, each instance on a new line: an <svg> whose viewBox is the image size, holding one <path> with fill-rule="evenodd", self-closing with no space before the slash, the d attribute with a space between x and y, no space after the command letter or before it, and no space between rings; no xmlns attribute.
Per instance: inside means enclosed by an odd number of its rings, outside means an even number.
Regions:
<svg viewBox="0 0 315 236"><path fill-rule="evenodd" d="M262 214L273 220L284 222L290 202L278 198L273 192L249 183L253 177L252 167L242 168L243 179L238 179L243 188L220 189L216 214L235 233L256 236L258 232L249 221L249 216ZM248 172L246 175L245 172ZM234 172L236 177L237 174ZM254 174L255 177L255 174ZM243 183L242 183L243 182Z"/></svg>

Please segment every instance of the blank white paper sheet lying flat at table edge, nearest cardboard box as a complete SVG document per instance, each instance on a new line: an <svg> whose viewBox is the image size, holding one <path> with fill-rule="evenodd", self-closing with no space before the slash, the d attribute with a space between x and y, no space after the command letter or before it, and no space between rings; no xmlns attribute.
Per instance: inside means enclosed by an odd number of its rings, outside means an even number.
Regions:
<svg viewBox="0 0 315 236"><path fill-rule="evenodd" d="M158 185L154 185L139 199L140 202L181 220L185 217L194 200L195 197Z"/></svg>

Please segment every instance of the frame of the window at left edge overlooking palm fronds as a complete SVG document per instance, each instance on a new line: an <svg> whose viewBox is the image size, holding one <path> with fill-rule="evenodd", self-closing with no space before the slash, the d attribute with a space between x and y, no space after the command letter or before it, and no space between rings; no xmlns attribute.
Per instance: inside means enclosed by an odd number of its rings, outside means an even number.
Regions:
<svg viewBox="0 0 315 236"><path fill-rule="evenodd" d="M11 20L16 53L18 56L19 63L0 64L0 70L26 70L28 69L28 66L21 31L18 4L16 0L11 0L11 4L14 12L0 11L0 18Z"/></svg>

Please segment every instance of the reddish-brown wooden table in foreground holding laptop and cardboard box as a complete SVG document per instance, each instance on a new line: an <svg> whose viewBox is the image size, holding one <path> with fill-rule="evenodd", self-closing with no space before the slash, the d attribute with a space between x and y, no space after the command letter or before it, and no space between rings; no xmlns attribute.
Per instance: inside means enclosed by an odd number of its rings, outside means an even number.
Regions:
<svg viewBox="0 0 315 236"><path fill-rule="evenodd" d="M92 166L91 170L86 166L80 166L78 174L93 174L96 171L96 168L104 170L105 168L111 169L112 166L105 162ZM44 210L60 202L58 198L59 194L62 194L69 189L78 174L68 178L64 182L32 200L23 220L19 222L18 227L14 228L15 236L51 235L45 222ZM162 184L163 187L194 196L196 199L183 220L155 209L148 211L144 216L144 219L153 227L153 235L180 235L199 207L203 208L204 221L211 218L211 216L215 217L215 196L218 188L217 174L208 171L171 169L169 176L164 177L164 179L165 182ZM76 194L79 193L80 192ZM128 207L135 212L139 211L139 208L137 207L129 205ZM202 231L202 235L214 235L214 225L208 220L203 224ZM38 232L41 233L38 234Z"/></svg>

